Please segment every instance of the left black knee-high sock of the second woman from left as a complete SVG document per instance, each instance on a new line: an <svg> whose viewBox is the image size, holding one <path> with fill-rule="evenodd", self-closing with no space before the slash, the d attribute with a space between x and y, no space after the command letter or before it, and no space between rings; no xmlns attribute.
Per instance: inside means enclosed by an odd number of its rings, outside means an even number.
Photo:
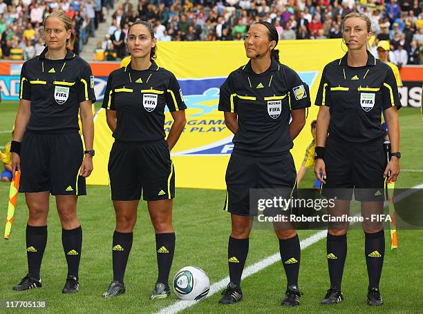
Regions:
<svg viewBox="0 0 423 314"><path fill-rule="evenodd" d="M124 282L126 263L132 247L133 233L113 233L113 281Z"/></svg>

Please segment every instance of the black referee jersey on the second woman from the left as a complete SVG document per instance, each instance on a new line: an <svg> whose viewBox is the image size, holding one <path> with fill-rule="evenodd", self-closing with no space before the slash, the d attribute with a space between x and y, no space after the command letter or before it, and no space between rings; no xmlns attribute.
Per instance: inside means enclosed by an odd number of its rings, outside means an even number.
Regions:
<svg viewBox="0 0 423 314"><path fill-rule="evenodd" d="M151 61L147 70L133 70L131 63L114 70L107 80L103 108L116 110L119 141L164 139L164 108L185 110L175 75Z"/></svg>

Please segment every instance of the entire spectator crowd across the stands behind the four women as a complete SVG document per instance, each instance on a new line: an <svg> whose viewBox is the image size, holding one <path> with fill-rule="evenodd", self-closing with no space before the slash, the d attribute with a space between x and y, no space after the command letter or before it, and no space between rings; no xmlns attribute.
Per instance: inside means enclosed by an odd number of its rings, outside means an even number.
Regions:
<svg viewBox="0 0 423 314"><path fill-rule="evenodd" d="M192 2L191 2L192 1ZM159 41L243 40L254 21L274 23L279 39L341 38L342 18L353 10L373 22L375 43L391 43L391 61L420 64L423 50L423 1L418 0L0 0L1 50L5 59L28 59L44 46L40 24L46 14L62 9L74 20L79 53L103 21L104 9L113 9L113 22L104 41L97 43L96 59L126 55L125 30L142 19L153 24ZM17 51L17 50L19 51ZM97 53L98 52L98 53Z"/></svg>

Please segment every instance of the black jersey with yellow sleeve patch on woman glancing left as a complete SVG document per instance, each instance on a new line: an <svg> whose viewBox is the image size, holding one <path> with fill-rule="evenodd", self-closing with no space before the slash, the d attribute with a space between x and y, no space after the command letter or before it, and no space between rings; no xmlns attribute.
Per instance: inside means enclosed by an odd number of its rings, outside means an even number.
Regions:
<svg viewBox="0 0 423 314"><path fill-rule="evenodd" d="M220 86L218 110L238 115L234 151L279 155L293 146L290 112L310 107L308 85L297 72L272 58L270 68L256 74L251 60Z"/></svg>

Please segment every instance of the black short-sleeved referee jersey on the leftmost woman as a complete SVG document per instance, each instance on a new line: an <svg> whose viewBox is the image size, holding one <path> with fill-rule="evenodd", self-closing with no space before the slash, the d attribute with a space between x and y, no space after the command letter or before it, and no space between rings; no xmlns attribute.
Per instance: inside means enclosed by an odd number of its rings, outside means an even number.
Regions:
<svg viewBox="0 0 423 314"><path fill-rule="evenodd" d="M46 59L47 50L22 66L19 98L31 101L26 129L77 131L79 103L95 102L91 67L71 50L62 60Z"/></svg>

